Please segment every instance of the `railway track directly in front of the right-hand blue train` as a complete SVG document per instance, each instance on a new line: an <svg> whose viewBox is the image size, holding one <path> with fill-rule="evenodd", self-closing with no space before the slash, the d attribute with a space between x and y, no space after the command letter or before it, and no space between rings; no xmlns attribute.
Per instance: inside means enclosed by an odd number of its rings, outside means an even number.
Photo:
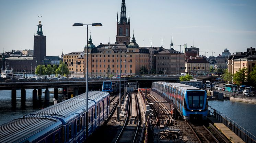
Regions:
<svg viewBox="0 0 256 143"><path fill-rule="evenodd" d="M219 143L214 135L202 124L191 124L187 121L187 125L194 131L200 143Z"/></svg>

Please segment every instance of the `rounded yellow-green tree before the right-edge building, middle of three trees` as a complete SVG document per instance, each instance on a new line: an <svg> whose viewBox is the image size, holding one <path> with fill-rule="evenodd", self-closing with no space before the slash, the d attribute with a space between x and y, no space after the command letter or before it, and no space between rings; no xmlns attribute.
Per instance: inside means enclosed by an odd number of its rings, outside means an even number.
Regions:
<svg viewBox="0 0 256 143"><path fill-rule="evenodd" d="M248 74L248 69L247 68L242 68L239 71L237 71L234 75L234 83L238 86L241 85L246 85L247 83L247 74Z"/></svg>

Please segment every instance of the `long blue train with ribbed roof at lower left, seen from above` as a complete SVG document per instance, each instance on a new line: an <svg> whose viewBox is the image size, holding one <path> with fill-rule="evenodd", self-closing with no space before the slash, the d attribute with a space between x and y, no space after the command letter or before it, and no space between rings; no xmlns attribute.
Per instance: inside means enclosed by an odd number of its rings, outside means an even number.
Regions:
<svg viewBox="0 0 256 143"><path fill-rule="evenodd" d="M88 93L88 135L109 116L109 93ZM0 142L85 141L86 93L0 125Z"/></svg>

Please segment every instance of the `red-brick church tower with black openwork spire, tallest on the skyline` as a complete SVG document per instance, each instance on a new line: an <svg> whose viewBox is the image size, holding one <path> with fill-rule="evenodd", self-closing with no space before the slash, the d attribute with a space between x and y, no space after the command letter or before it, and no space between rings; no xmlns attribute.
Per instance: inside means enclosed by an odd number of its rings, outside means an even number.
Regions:
<svg viewBox="0 0 256 143"><path fill-rule="evenodd" d="M122 0L119 22L118 14L116 18L116 42L126 42L126 44L128 45L130 43L130 39L130 14L127 22L125 0Z"/></svg>

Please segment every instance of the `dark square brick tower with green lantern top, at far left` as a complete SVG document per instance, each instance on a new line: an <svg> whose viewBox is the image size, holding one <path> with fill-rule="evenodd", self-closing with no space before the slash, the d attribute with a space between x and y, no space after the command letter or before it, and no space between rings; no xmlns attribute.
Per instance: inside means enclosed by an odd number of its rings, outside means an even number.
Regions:
<svg viewBox="0 0 256 143"><path fill-rule="evenodd" d="M37 35L34 35L34 63L37 60L38 65L43 64L43 60L46 56L46 36L43 35L42 27L43 25L41 25L41 20L39 19Z"/></svg>

